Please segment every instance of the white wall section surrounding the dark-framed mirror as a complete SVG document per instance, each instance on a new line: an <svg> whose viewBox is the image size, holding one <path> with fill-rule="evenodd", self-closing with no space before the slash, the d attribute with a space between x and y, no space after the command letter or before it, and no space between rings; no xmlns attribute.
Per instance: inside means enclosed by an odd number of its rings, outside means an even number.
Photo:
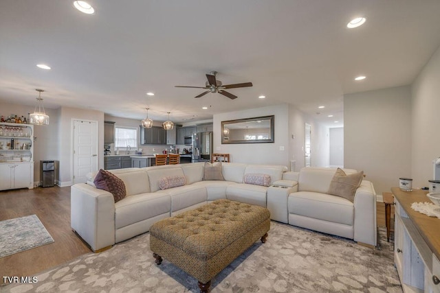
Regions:
<svg viewBox="0 0 440 293"><path fill-rule="evenodd" d="M221 121L275 115L274 143L221 144ZM289 166L289 107L287 104L214 115L214 153L230 154L232 162ZM281 151L280 147L284 150Z"/></svg>

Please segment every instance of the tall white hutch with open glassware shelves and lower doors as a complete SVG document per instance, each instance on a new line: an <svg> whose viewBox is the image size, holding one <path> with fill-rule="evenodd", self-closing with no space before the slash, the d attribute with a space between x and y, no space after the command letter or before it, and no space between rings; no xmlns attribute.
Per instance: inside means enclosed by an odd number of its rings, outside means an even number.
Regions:
<svg viewBox="0 0 440 293"><path fill-rule="evenodd" d="M0 123L0 190L34 188L34 126Z"/></svg>

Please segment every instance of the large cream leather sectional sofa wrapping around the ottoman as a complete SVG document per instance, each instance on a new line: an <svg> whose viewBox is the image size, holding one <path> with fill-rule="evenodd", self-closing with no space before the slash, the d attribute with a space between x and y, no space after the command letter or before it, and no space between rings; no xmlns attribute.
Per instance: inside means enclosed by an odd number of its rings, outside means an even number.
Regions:
<svg viewBox="0 0 440 293"><path fill-rule="evenodd" d="M228 198L267 207L274 215L273 220L340 235L373 246L376 244L375 205L374 208L369 207L375 195L373 185L368 181L362 183L353 204L344 198L320 193L325 191L322 178L331 180L336 169L317 169L316 186L319 188L315 190L310 187L307 191L309 187L304 180L313 177L311 174L309 176L309 170L307 176L303 176L303 170L299 173L287 172L287 167L281 165L223 163L221 172L224 180L203 180L204 166L204 163L191 163L111 170L124 181L126 187L126 197L116 203L111 193L94 187L94 174L90 175L87 184L72 186L71 226L92 250L98 251L145 233L157 220L213 200ZM321 172L323 174L318 175ZM245 174L270 175L272 186L243 183ZM184 176L186 185L162 190L159 188L159 180L164 176ZM287 187L280 189L276 187L279 185ZM314 199L316 196L321 199ZM310 199L307 201L307 198ZM344 208L332 211L339 207L338 204ZM322 218L321 211L335 216ZM372 218L374 223L358 224L358 221L365 222Z"/></svg>

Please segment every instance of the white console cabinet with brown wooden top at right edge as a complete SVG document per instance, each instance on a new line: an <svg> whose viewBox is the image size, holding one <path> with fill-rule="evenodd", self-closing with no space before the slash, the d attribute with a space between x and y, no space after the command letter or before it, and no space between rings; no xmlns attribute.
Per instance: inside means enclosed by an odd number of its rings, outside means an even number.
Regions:
<svg viewBox="0 0 440 293"><path fill-rule="evenodd" d="M425 191L393 187L395 197L394 259L404 292L440 293L440 219L411 209L430 202Z"/></svg>

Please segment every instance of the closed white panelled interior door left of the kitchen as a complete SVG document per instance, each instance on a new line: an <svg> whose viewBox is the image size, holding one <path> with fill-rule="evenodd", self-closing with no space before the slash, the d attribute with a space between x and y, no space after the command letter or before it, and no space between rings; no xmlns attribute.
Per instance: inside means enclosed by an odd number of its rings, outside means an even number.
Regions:
<svg viewBox="0 0 440 293"><path fill-rule="evenodd" d="M85 183L89 172L98 171L98 122L74 120L73 184Z"/></svg>

